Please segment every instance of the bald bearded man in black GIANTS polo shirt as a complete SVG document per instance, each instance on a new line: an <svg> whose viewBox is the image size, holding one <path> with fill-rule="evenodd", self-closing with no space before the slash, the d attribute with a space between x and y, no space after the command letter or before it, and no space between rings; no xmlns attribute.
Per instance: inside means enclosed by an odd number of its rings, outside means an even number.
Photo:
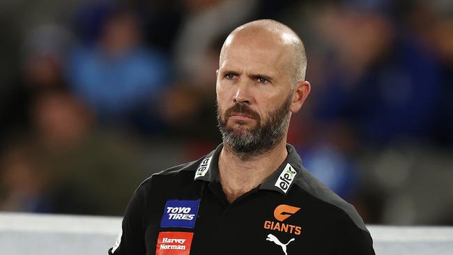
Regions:
<svg viewBox="0 0 453 255"><path fill-rule="evenodd" d="M286 144L310 92L305 49L287 26L258 20L225 40L217 70L224 143L155 174L132 197L110 254L374 254L353 206Z"/></svg>

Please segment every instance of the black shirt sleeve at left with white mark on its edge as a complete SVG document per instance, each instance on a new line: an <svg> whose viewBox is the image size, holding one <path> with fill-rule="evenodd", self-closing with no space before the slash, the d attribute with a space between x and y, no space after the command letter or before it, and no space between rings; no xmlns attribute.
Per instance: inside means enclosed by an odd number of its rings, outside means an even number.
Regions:
<svg viewBox="0 0 453 255"><path fill-rule="evenodd" d="M125 210L121 231L109 255L144 255L145 211L147 192L144 184L140 185L130 199Z"/></svg>

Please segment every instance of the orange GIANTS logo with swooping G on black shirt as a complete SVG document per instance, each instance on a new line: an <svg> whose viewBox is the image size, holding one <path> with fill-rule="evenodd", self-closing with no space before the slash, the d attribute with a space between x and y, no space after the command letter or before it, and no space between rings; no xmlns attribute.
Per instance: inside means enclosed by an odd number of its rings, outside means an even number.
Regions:
<svg viewBox="0 0 453 255"><path fill-rule="evenodd" d="M294 226L291 224L285 224L283 221L291 217L291 215L298 212L300 208L288 205L279 205L274 210L274 217L279 222L266 220L264 221L264 229L276 230L286 233L294 233L295 235L300 235L300 226Z"/></svg>

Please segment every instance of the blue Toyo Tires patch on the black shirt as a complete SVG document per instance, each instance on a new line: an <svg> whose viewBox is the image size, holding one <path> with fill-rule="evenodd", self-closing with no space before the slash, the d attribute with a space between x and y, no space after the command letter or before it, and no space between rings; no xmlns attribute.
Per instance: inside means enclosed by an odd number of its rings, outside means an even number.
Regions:
<svg viewBox="0 0 453 255"><path fill-rule="evenodd" d="M200 200L167 200L160 226L193 229Z"/></svg>

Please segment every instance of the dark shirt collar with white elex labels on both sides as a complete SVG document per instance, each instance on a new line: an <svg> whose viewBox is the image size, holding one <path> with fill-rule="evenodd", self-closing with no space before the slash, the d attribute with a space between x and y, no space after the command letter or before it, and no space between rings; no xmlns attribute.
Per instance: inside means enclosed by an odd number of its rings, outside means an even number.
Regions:
<svg viewBox="0 0 453 255"><path fill-rule="evenodd" d="M220 144L201 160L194 180L204 180L210 183L219 181L219 155L222 148L223 144ZM287 194L294 184L295 176L300 176L302 169L300 156L291 144L286 144L286 150L288 150L288 155L284 162L264 180L264 183L259 185L259 190L274 190Z"/></svg>

